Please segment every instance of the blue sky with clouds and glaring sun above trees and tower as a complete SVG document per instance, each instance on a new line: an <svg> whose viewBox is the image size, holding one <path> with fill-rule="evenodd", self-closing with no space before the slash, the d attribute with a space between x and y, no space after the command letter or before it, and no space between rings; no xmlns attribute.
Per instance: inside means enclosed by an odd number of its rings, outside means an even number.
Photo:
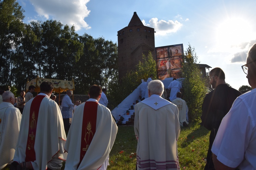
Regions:
<svg viewBox="0 0 256 170"><path fill-rule="evenodd" d="M133 12L155 29L155 47L188 43L198 62L221 67L226 82L238 89L249 85L241 65L256 43L255 0L18 0L25 23L54 19L74 25L80 35L117 42L117 31L128 26Z"/></svg>

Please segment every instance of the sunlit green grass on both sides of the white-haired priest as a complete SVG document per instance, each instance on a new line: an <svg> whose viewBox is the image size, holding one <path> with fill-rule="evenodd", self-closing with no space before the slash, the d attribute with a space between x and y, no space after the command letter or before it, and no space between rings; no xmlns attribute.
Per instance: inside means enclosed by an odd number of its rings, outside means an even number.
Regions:
<svg viewBox="0 0 256 170"><path fill-rule="evenodd" d="M195 121L189 123L188 127L181 128L178 140L178 154L181 169L204 169L209 147L210 131L198 125L198 123L198 121ZM133 126L118 126L116 140L110 152L108 170L135 170L136 148L137 140ZM62 169L64 169L64 166ZM5 168L4 170L9 170L9 168Z"/></svg>

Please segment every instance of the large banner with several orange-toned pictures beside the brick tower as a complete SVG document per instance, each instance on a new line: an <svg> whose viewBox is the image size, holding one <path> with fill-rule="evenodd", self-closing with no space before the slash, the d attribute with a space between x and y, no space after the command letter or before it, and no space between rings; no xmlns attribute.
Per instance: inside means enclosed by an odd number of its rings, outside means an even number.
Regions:
<svg viewBox="0 0 256 170"><path fill-rule="evenodd" d="M155 53L158 80L182 78L183 44L156 47Z"/></svg>

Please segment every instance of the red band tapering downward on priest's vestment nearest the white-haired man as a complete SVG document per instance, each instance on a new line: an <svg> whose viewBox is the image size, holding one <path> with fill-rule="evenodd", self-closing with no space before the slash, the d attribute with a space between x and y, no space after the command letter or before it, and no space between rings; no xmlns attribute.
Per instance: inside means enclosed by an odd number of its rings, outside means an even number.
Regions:
<svg viewBox="0 0 256 170"><path fill-rule="evenodd" d="M97 102L85 102L81 136L80 162L77 165L77 169L81 164L96 132L97 108Z"/></svg>

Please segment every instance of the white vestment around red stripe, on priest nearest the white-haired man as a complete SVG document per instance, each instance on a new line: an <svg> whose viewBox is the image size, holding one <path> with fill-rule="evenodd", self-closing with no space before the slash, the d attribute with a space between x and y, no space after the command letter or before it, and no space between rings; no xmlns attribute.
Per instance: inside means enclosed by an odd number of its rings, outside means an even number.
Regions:
<svg viewBox="0 0 256 170"><path fill-rule="evenodd" d="M86 102L98 103L96 99L89 99ZM77 169L77 165L80 162L85 103L77 106L72 120L73 122L68 133L68 138L65 145L65 150L68 152L68 157L65 164L66 170ZM101 169L106 169L108 155L114 144L117 129L117 125L111 115L110 110L105 106L98 104L96 131L78 169L97 170L101 166L104 166L104 168L101 167Z"/></svg>

